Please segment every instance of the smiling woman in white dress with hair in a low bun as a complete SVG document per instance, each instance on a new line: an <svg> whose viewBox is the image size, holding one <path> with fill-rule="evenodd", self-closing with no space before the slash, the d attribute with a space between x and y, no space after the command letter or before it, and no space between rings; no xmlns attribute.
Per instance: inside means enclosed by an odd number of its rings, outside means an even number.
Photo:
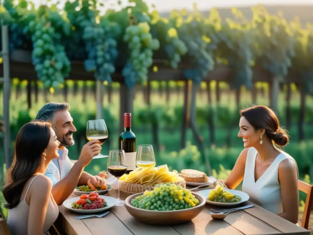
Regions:
<svg viewBox="0 0 313 235"><path fill-rule="evenodd" d="M238 137L243 139L233 170L226 180L217 180L229 189L242 181L242 191L249 201L262 206L290 222L298 222L298 168L295 160L278 146L285 146L289 137L280 127L275 113L266 106L241 110Z"/></svg>

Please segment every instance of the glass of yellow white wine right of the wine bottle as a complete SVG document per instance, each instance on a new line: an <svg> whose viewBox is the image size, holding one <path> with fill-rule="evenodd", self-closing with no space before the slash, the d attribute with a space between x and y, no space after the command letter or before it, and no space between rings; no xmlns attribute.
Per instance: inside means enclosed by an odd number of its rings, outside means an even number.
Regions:
<svg viewBox="0 0 313 235"><path fill-rule="evenodd" d="M151 144L138 145L136 152L136 165L140 168L154 167L156 165L156 159Z"/></svg>

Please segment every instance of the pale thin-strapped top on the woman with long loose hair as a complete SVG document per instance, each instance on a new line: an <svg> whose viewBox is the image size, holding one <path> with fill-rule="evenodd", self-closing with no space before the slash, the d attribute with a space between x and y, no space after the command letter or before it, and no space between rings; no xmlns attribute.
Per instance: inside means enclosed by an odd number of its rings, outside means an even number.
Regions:
<svg viewBox="0 0 313 235"><path fill-rule="evenodd" d="M26 202L26 196L30 185L33 183L33 180L36 179L39 175L33 176L33 179L30 181L25 196L22 201L13 209L8 211L8 227L10 229L11 235L31 235L27 234L28 231L28 211L29 206ZM52 194L50 194L50 200L48 202L48 208L46 213L46 218L44 221L43 234L47 234L50 227L53 225L55 220L59 215L59 207L55 203ZM31 215L30 215L31 216Z"/></svg>

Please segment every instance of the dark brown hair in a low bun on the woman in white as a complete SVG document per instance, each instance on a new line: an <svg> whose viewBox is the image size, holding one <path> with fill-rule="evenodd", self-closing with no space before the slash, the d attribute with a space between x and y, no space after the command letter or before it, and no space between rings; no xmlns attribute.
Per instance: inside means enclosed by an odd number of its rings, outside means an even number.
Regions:
<svg viewBox="0 0 313 235"><path fill-rule="evenodd" d="M288 144L289 137L280 127L276 114L264 105L256 105L240 110L240 116L254 127L255 130L265 129L266 136L279 146Z"/></svg>

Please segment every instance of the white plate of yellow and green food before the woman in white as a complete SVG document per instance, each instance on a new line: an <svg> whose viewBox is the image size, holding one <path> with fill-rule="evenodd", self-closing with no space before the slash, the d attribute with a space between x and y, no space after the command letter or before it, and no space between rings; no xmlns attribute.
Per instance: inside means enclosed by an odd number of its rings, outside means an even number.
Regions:
<svg viewBox="0 0 313 235"><path fill-rule="evenodd" d="M217 185L215 189L199 191L198 194L206 198L208 204L219 206L234 206L249 200L249 195L245 192L225 189Z"/></svg>

